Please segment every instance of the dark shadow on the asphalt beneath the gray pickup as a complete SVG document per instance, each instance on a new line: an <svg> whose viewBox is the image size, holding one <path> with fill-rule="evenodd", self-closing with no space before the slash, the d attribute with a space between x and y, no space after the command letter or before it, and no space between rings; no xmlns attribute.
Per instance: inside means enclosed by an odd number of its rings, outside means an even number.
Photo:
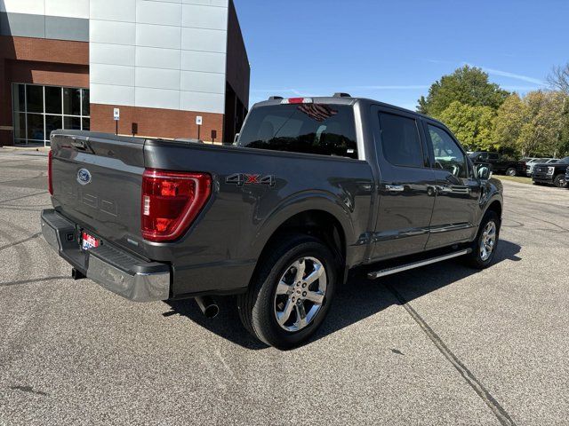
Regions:
<svg viewBox="0 0 569 426"><path fill-rule="evenodd" d="M520 246L517 244L501 240L491 268L505 260L520 261L521 258L517 256L519 251ZM456 281L474 274L477 274L477 271L464 266L460 260L431 264L380 280L367 280L364 273L357 272L345 286L338 289L324 324L307 344L333 334L344 327L349 327L389 308L391 305L400 304L389 287L396 288L397 292L405 298L405 301L413 302L414 299L428 295L439 288L452 285ZM268 347L247 333L241 325L235 297L220 297L217 302L220 305L220 314L215 319L205 318L193 300L167 302L172 309L169 312L164 312L164 316L185 316L212 333L246 349L260 350Z"/></svg>

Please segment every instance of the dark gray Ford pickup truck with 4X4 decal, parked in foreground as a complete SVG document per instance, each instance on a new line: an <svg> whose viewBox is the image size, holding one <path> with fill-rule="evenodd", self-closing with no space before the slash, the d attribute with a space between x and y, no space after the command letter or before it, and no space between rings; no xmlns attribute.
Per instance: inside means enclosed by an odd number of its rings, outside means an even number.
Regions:
<svg viewBox="0 0 569 426"><path fill-rule="evenodd" d="M297 346L360 267L370 279L464 256L485 268L499 181L427 116L345 94L271 98L233 146L52 133L45 240L132 301L238 295L253 335Z"/></svg>

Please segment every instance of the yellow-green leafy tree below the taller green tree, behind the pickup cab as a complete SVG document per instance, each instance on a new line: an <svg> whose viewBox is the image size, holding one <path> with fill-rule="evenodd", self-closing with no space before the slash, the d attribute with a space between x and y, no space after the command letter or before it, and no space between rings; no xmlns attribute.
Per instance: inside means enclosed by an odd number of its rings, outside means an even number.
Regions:
<svg viewBox="0 0 569 426"><path fill-rule="evenodd" d="M470 106L454 101L439 118L469 150L494 151L500 147L493 140L495 116L490 106Z"/></svg>

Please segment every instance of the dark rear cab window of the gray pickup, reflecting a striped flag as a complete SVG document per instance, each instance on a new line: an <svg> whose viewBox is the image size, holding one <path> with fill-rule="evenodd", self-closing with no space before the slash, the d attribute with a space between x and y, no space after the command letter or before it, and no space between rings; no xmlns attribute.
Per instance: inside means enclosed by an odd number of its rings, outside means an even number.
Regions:
<svg viewBox="0 0 569 426"><path fill-rule="evenodd" d="M249 114L239 146L357 159L354 111L327 104L260 106Z"/></svg>

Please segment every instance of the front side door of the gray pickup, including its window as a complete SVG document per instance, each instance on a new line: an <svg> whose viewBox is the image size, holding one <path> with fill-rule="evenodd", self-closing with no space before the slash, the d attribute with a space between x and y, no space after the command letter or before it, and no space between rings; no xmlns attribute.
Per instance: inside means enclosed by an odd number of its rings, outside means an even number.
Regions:
<svg viewBox="0 0 569 426"><path fill-rule="evenodd" d="M472 239L476 233L481 186L467 155L451 133L436 122L424 122L437 197L427 249Z"/></svg>

